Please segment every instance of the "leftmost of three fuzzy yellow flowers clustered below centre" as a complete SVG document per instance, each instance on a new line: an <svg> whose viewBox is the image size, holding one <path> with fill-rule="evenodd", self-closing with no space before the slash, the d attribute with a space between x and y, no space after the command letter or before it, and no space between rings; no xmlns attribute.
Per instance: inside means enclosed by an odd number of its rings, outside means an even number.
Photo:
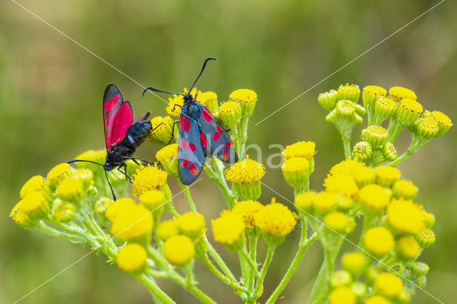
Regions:
<svg viewBox="0 0 457 304"><path fill-rule="evenodd" d="M239 213L224 211L219 218L211 220L214 240L223 243L230 250L240 250L246 240L244 237L243 216Z"/></svg>

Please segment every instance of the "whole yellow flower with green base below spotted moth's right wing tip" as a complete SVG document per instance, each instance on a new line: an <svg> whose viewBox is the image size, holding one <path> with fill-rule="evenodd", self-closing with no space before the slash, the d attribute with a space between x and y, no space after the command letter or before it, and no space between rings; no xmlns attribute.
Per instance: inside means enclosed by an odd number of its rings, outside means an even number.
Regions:
<svg viewBox="0 0 457 304"><path fill-rule="evenodd" d="M244 161L238 161L226 169L227 181L234 184L236 192L243 201L257 200L261 194L260 180L265 175L265 167L246 156Z"/></svg>

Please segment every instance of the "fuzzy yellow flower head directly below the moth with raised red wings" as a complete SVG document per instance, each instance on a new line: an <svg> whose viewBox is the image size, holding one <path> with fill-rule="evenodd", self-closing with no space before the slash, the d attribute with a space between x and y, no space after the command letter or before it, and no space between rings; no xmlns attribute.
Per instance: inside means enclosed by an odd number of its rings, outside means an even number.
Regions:
<svg viewBox="0 0 457 304"><path fill-rule="evenodd" d="M146 191L160 189L166 183L168 173L154 166L140 166L134 175L132 191L134 196L139 197Z"/></svg>

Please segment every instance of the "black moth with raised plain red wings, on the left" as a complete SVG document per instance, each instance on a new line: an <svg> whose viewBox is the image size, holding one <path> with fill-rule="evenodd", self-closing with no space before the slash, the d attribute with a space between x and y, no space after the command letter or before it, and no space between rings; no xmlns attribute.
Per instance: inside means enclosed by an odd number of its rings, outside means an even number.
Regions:
<svg viewBox="0 0 457 304"><path fill-rule="evenodd" d="M121 90L119 90L114 83L109 83L109 85L106 86L103 96L103 120L106 141L105 163L101 164L83 159L75 159L67 163L85 161L103 166L106 181L108 181L106 172L117 168L118 171L130 181L125 161L128 159L131 159L135 163L137 163L137 160L143 161L139 158L132 157L132 155L136 148L138 148L138 146L146 140L149 134L154 131L151 121L146 120L149 117L149 114L149 112L144 113L144 115L134 123L134 111L131 108L130 102L124 101ZM159 126L156 126L156 128L157 127ZM121 168L124 168L124 171L122 171ZM113 193L114 199L116 199L112 188L111 192Z"/></svg>

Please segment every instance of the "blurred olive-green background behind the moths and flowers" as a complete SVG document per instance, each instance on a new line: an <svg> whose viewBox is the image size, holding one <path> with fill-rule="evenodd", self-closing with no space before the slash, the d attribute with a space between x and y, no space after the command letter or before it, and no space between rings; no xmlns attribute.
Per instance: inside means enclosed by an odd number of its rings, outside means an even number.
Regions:
<svg viewBox="0 0 457 304"><path fill-rule="evenodd" d="M257 92L248 143L263 148L263 163L270 153L278 152L268 148L273 143L285 146L299 140L315 141L318 153L311 185L317 190L328 168L343 158L338 133L326 123L326 112L316 101L319 92L346 82L361 87L405 86L416 91L424 108L443 111L454 121L457 118L456 1L443 2L258 126L254 124L438 1L20 3L142 86L180 91L194 80L204 58L216 57L218 61L209 64L198 87L215 91L219 101L236 88ZM44 175L82 151L104 147L101 99L107 83L119 85L132 101L136 116L146 110L164 115L166 105L152 95L141 98L139 84L14 2L1 1L0 17L0 303L12 303L90 250L14 225L8 215L19 200L21 185L30 176ZM404 151L409 140L403 134L396 144L398 150ZM417 201L436 214L436 244L425 250L420 260L431 265L426 290L444 302L455 299L457 281L456 147L452 128L400 166L403 176L420 188ZM157 148L146 143L137 155L152 161ZM263 182L292 199L280 169L267 168ZM176 193L176 183L169 183ZM208 220L216 218L225 206L206 177L192 192ZM263 188L261 201L268 203L271 196L283 201ZM179 210L186 210L184 196L178 196L175 203ZM281 279L297 242L298 228L276 252L267 275L266 295ZM218 248L236 270L236 255ZM346 250L351 249L346 243ZM21 303L151 300L146 288L104 260L89 255ZM321 260L316 243L280 303L306 300ZM215 300L239 302L201 263L197 262L196 272L201 288ZM194 303L189 293L173 283L160 281L160 285L179 303ZM413 303L433 302L421 291L413 298Z"/></svg>

